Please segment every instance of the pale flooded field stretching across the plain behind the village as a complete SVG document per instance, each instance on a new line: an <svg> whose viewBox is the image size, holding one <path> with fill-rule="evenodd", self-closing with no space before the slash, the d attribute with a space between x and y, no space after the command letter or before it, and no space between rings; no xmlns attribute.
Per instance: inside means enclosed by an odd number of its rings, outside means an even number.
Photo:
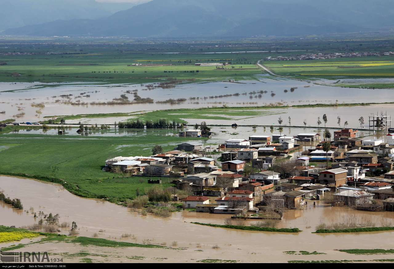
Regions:
<svg viewBox="0 0 394 269"><path fill-rule="evenodd" d="M75 115L75 114L97 114L115 112L137 112L143 110L162 110L171 108L201 108L212 106L263 106L269 104L299 105L316 103L370 103L387 102L394 98L391 90L371 90L357 88L340 88L325 85L317 85L297 80L273 78L261 75L259 80L243 81L242 83L209 82L190 83L176 85L174 88L153 88L147 90L147 85L122 84L122 85L86 85L83 83L52 84L43 87L43 84L29 83L0 83L0 120L16 118L17 121L38 121L44 116ZM37 86L35 86L37 85ZM154 84L157 85L157 84ZM290 91L290 88L295 88ZM8 92L7 92L8 91ZM12 92L9 92L12 91ZM154 102L168 99L184 98L186 101L179 104L154 103L154 104L132 104L132 105L91 105L92 102L108 102L126 94L129 100L133 95L126 91L137 91L141 98L152 98ZM263 91L263 93L260 93ZM231 94L232 96L225 96ZM204 98L206 97L206 98ZM70 105L80 101L85 105ZM39 104L39 105L37 105ZM273 110L273 112L284 113L282 118L286 120L292 116L292 123L303 125L316 125L317 116L327 113L329 126L335 126L336 117L340 115L349 124L358 125L358 115L368 116L368 113L386 109L390 114L392 106L376 105L374 107L337 107L337 108L303 108ZM313 113L310 113L313 109ZM316 111L316 112L315 112ZM346 114L345 114L346 113ZM349 114L350 113L350 114ZM287 115L288 114L288 115ZM321 115L320 115L321 114ZM358 116L358 117L357 117ZM120 118L125 120L127 117ZM345 119L346 118L346 119ZM91 122L97 119L87 119ZM100 123L112 123L113 118L100 118ZM84 121L84 119L82 120ZM253 120L255 121L255 120ZM277 117L264 116L261 124L276 123ZM332 122L330 122L332 121ZM240 120L248 123L247 119ZM249 121L250 122L250 121Z"/></svg>

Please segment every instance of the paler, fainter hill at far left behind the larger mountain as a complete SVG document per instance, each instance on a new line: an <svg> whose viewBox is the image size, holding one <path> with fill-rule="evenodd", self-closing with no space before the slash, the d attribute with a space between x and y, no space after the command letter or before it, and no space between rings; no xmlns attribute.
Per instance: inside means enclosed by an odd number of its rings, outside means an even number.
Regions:
<svg viewBox="0 0 394 269"><path fill-rule="evenodd" d="M95 0L1 0L0 31L57 19L99 19L132 6Z"/></svg>

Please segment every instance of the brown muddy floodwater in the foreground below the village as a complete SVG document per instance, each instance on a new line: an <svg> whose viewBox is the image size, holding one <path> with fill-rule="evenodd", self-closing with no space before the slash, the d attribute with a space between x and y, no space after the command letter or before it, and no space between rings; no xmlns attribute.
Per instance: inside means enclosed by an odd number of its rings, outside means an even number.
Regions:
<svg viewBox="0 0 394 269"><path fill-rule="evenodd" d="M149 239L151 243L171 244L176 241L176 250L119 249L117 253L167 257L171 261L190 261L195 259L216 258L241 261L286 262L288 260L360 260L359 256L335 252L335 249L350 248L393 248L394 232L373 232L358 234L313 234L321 223L356 222L359 226L388 225L394 223L392 212L355 211L347 207L331 207L310 201L305 210L290 210L284 214L279 227L299 228L298 234L248 232L213 228L191 224L192 221L224 224L227 215L195 213L182 211L173 213L169 218L143 216L126 207L95 199L85 199L66 191L62 186L44 183L32 179L0 176L0 188L13 198L20 198L25 210L30 207L35 212L58 213L60 222L75 221L80 228L81 236L92 237L94 233L101 238L142 243ZM38 222L31 213L13 209L0 203L2 225L28 226ZM253 221L252 221L253 222ZM250 223L250 222L246 222ZM62 232L67 234L67 229ZM133 234L134 239L120 239L122 234ZM52 250L53 243L40 245ZM9 244L8 244L9 245ZM212 249L212 246L219 249ZM1 245L0 245L1 246ZM65 243L64 249L56 245L58 252L65 252L70 246ZM197 248L199 246L199 248ZM62 251L60 251L60 249ZM200 251L199 249L203 250ZM198 250L198 251L195 251ZM325 255L318 257L294 257L284 251L318 251ZM97 250L99 251L99 250ZM118 253L118 254L119 254ZM373 258L393 258L393 255L373 255ZM365 257L362 257L365 258ZM370 259L371 256L368 256Z"/></svg>

